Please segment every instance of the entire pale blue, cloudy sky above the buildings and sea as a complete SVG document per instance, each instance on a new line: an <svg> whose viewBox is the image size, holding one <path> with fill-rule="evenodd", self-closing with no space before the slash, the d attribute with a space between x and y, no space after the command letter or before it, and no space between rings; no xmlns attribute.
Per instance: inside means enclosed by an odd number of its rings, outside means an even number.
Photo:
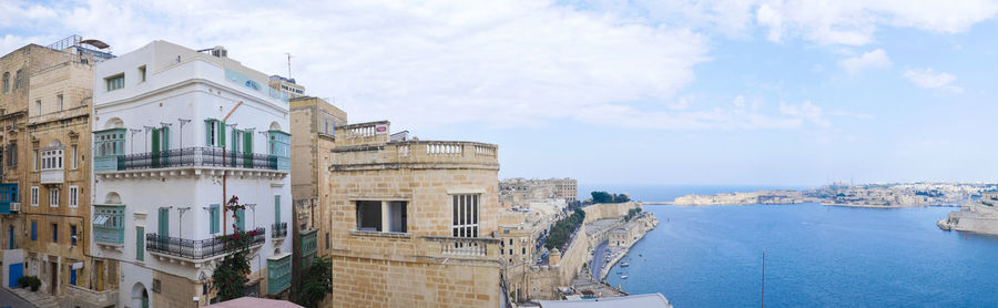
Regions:
<svg viewBox="0 0 998 308"><path fill-rule="evenodd" d="M0 53L166 40L282 75L291 53L291 76L349 122L498 144L503 178L995 183L996 14L979 0L6 0Z"/></svg>

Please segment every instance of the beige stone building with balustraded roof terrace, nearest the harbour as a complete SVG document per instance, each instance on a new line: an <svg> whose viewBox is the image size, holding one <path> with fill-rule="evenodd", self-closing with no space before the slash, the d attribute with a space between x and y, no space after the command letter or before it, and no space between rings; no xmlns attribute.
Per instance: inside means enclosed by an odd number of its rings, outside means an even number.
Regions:
<svg viewBox="0 0 998 308"><path fill-rule="evenodd" d="M336 127L328 167L335 307L497 307L497 146Z"/></svg>

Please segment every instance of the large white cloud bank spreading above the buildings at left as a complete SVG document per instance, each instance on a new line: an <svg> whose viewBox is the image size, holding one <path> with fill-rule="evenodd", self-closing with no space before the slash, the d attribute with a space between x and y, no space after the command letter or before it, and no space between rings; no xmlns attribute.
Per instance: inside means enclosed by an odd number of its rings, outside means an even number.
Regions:
<svg viewBox="0 0 998 308"><path fill-rule="evenodd" d="M546 1L90 0L52 11L26 23L104 40L118 54L154 39L225 45L251 68L286 74L289 52L308 94L335 99L352 122L403 126L538 125L608 102L670 101L709 60L706 40L684 28ZM37 42L60 37L50 35Z"/></svg>

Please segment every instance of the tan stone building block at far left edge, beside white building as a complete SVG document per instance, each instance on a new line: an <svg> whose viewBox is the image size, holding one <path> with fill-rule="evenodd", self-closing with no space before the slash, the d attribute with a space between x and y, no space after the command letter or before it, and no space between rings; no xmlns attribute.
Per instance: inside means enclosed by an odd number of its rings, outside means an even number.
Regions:
<svg viewBox="0 0 998 308"><path fill-rule="evenodd" d="M112 58L106 48L71 35L0 59L0 229L3 254L22 257L3 258L3 285L37 276L42 292L74 307L115 302L101 299L115 291L115 270L89 247L92 66Z"/></svg>

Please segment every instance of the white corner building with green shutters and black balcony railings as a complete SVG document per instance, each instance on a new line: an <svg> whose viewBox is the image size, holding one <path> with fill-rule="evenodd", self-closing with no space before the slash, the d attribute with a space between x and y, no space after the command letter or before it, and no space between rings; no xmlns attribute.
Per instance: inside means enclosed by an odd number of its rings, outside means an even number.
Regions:
<svg viewBox="0 0 998 308"><path fill-rule="evenodd" d="M267 75L154 41L94 68L95 258L119 260L121 306L207 305L234 225L251 245L251 294L291 284L288 104ZM225 213L237 196L245 211ZM207 291L207 294L205 294Z"/></svg>

